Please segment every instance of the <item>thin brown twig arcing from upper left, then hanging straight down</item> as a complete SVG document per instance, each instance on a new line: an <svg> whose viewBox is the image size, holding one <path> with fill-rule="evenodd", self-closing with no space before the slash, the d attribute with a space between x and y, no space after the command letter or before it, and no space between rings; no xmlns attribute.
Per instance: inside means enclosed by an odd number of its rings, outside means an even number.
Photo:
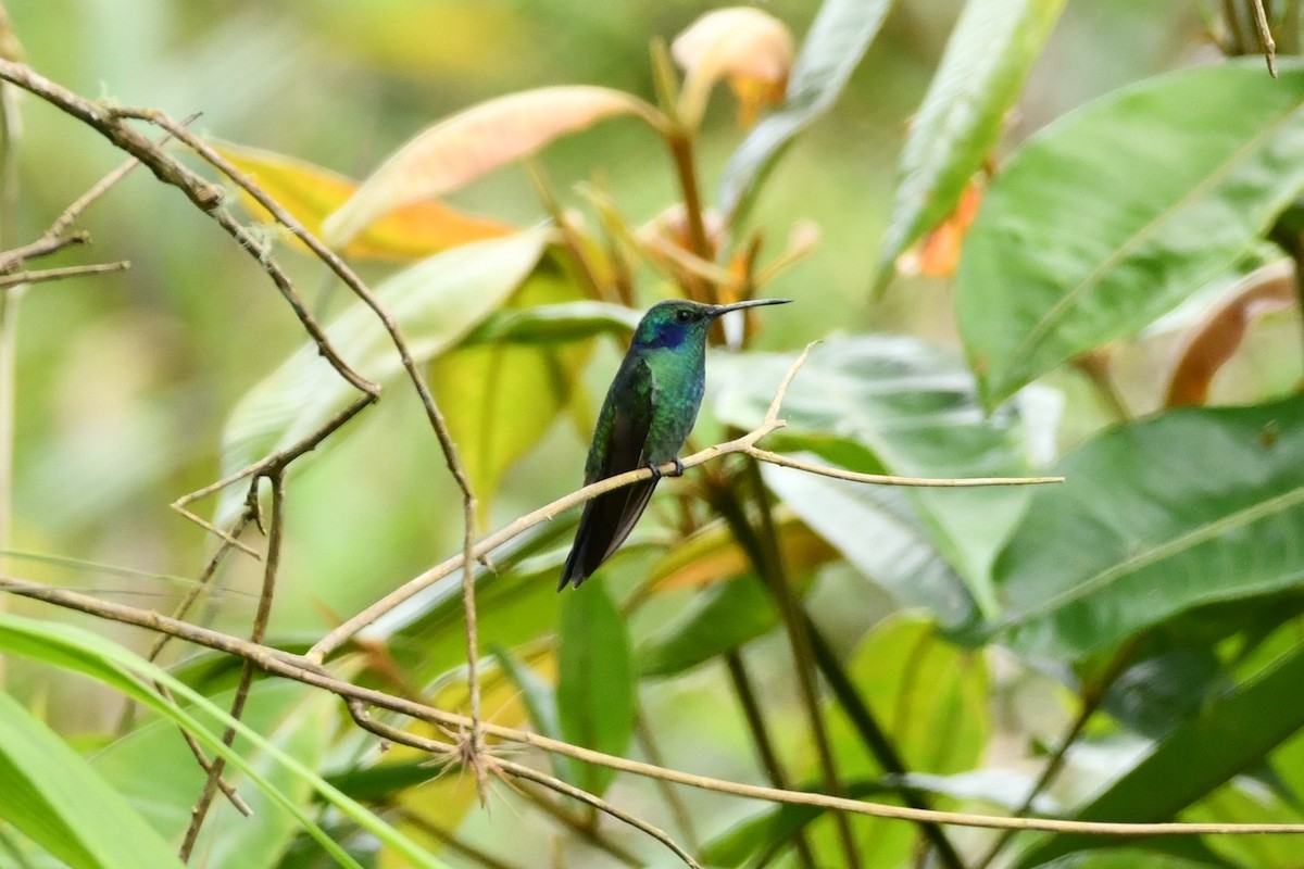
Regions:
<svg viewBox="0 0 1304 869"><path fill-rule="evenodd" d="M471 477L467 474L466 466L462 464L462 457L458 455L458 447L452 442L452 434L449 431L449 425L443 418L443 413L439 410L439 405L434 400L434 395L430 392L430 387L417 367L412 358L412 353L408 349L407 340L403 337L403 332L399 330L398 322L390 315L385 306L381 305L379 300L372 292L370 287L363 281L361 278L348 267L347 263L330 248L321 242L313 233L300 223L293 215L291 215L286 208L280 206L279 202L273 199L262 188L259 188L253 178L246 173L237 169L230 160L213 150L206 142L192 134L184 126L179 125L166 113L156 109L117 109L116 112L121 117L136 117L140 120L150 121L185 142L196 154L207 160L214 168L226 175L231 181L233 181L240 189L253 197L258 205L265 207L282 225L284 225L289 232L303 241L308 248L321 259L331 271L334 271L344 284L353 291L353 293L376 314L385 331L390 335L390 341L394 344L394 349L398 350L399 360L403 362L403 370L407 371L408 378L412 380L412 386L416 390L417 397L421 400L421 406L425 409L426 420L430 422L430 427L434 430L434 435L439 442L439 448L443 451L443 460L449 468L449 473L452 476L462 491L462 521L463 521L463 572L462 572L462 606L466 615L467 625L467 684L468 693L471 697L471 744L472 748L479 752L482 748L482 740L480 735L480 677L479 677L479 659L480 659L480 644L476 629L476 598L475 598L475 558L472 555L472 547L475 546L475 528L476 528L476 495L471 487ZM485 795L485 771L480 767L479 762L473 763L476 774L476 784L480 793L480 801L484 804Z"/></svg>

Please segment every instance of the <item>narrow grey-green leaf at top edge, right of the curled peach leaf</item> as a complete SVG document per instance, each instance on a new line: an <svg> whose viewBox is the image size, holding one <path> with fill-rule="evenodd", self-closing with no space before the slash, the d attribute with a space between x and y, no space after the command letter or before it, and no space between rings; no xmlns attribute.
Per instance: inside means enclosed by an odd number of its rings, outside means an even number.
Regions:
<svg viewBox="0 0 1304 869"><path fill-rule="evenodd" d="M720 212L741 223L762 180L793 138L846 86L892 0L824 0L788 76L784 103L743 139L720 180Z"/></svg>

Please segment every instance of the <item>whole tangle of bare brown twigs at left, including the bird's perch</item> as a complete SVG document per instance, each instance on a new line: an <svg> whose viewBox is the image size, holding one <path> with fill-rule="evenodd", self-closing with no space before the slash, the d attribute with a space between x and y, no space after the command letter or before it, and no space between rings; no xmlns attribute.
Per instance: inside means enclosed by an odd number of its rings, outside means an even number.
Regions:
<svg viewBox="0 0 1304 869"><path fill-rule="evenodd" d="M471 490L463 465L458 457L456 448L449 435L447 426L436 404L420 369L413 363L407 344L398 324L377 302L370 288L344 263L334 251L327 249L312 233L309 233L292 215L279 203L271 199L257 184L244 173L239 172L202 139L197 138L186 129L185 122L176 122L168 116L153 109L129 109L108 106L103 102L87 100L55 82L37 74L29 66L0 60L0 81L26 90L42 100L60 108L61 111L78 119L87 126L98 130L116 147L132 155L132 159L110 173L104 180L91 188L82 198L73 203L51 228L37 241L17 248L5 254L0 254L0 292L20 279L27 283L34 280L53 280L69 278L77 274L95 271L108 271L125 267L125 263L106 263L100 266L77 267L73 270L47 270L44 272L22 272L23 264L31 259L53 253L69 245L86 240L85 233L70 232L73 224L81 214L95 199L103 195L113 184L124 177L134 165L143 164L159 180L180 189L201 211L207 214L227 235L230 235L265 271L276 289L289 304L305 332L316 343L321 354L334 366L338 374L356 387L357 397L342 409L335 417L329 420L318 431L304 438L296 444L270 455L239 472L220 479L211 486L190 492L173 504L173 507L200 522L207 530L220 538L220 546L215 555L206 564L201 581L196 589L181 602L179 608L170 616L149 610L129 607L119 603L100 601L85 594L65 589L52 589L35 582L14 577L0 577L0 590L21 594L29 598L46 601L48 603L78 610L94 616L113 620L121 624L137 625L156 634L156 641L151 649L150 658L155 658L163 645L172 638L183 640L198 646L236 655L243 661L240 681L231 707L231 715L239 718L249 696L249 688L257 671L263 671L283 679L296 680L308 685L314 685L340 697L348 709L352 719L363 728L376 734L383 740L411 745L428 752L434 758L449 762L460 761L475 770L481 799L485 796L485 784L489 775L501 776L505 780L526 780L546 787L557 793L585 803L587 805L619 818L643 833L656 838L670 848L685 864L696 866L687 849L677 844L666 833L636 818L627 812L601 800L591 793L575 788L554 776L546 775L536 769L507 760L497 750L496 745L488 745L485 737L492 737L499 743L519 743L545 752L563 754L583 762L606 766L614 770L631 773L657 779L662 783L681 784L695 788L704 788L720 793L729 793L741 797L768 800L794 805L816 806L848 814L866 814L874 817L898 818L921 825L936 827L936 825L962 825L973 827L991 827L1008 831L1016 830L1045 830L1055 833L1088 833L1097 835L1194 835L1213 833L1304 833L1301 825L1219 825L1219 823L1089 823L1072 821L1054 821L1028 817L988 817L956 812L938 812L914 806L896 806L870 801L852 800L835 793L811 793L794 791L782 787L760 787L713 779L691 773L668 769L664 765L644 763L623 757L604 754L569 743L548 739L537 734L501 727L485 722L480 714L480 691L477 680L477 640L475 615L475 586L473 568L477 560L485 559L493 550L502 546L527 529L546 521L565 509L580 504L588 498L593 498L604 491L631 485L635 481L645 479L653 473L651 469L640 469L605 479L591 486L585 486L556 502L546 504L527 516L522 516L506 528L489 534L482 539L475 535L475 494ZM141 134L133 122L145 121L163 130L164 135L159 141L150 141ZM286 516L286 473L287 469L300 456L316 448L325 439L330 438L342 426L347 425L364 408L373 404L379 393L381 386L368 380L365 377L349 367L347 361L340 358L336 350L319 326L309 313L301 297L291 283L286 272L278 266L275 258L263 248L259 236L241 224L226 208L224 195L220 188L206 181L194 171L185 167L168 151L164 150L167 139L175 138L184 143L193 154L202 158L232 184L245 190L267 211L274 215L291 233L299 237L331 271L376 314L387 330L395 350L399 353L403 367L412 382L412 387L421 399L429 423L443 448L443 455L450 473L456 479L463 500L463 547L462 551L446 562L432 567L421 575L413 577L407 584L395 589L389 595L368 606L361 612L347 619L343 624L321 637L308 653L303 655L289 654L266 644L266 628L274 599L276 575L282 552ZM59 274L56 274L59 272ZM21 276L21 278L20 278ZM807 352L810 348L807 348ZM1056 478L986 478L986 479L911 479L898 477L883 477L876 474L857 474L838 469L811 465L788 456L769 452L758 447L758 442L771 431L781 427L780 406L784 395L788 392L793 378L806 358L806 353L789 370L782 384L775 395L763 422L752 431L707 449L699 451L682 460L682 466L691 468L721 456L741 453L756 461L772 463L788 468L795 468L808 473L825 474L841 479L862 483L878 485L904 485L904 486L985 486L985 485L1025 485L1055 482ZM669 470L666 465L662 470ZM259 507L259 485L266 479L270 483L270 504L266 522ZM209 496L226 486L248 485L249 496L244 512L230 528L216 528L188 509L188 506L201 498ZM263 552L240 541L241 533L250 525L262 526L266 524L267 541ZM186 621L186 614L196 602L203 585L215 575L218 565L232 550L239 548L263 562L263 584L259 595L257 614L253 620L249 638L241 638L227 633L211 631ZM352 684L334 676L326 670L330 655L353 641L359 634L372 625L382 615L390 612L400 603L428 588L433 582L455 572L462 572L463 605L467 625L467 664L469 688L469 715L463 717L451 711L436 709L433 706L398 697L381 691ZM160 691L163 691L160 688ZM413 720L434 724L446 739L429 739L416 736L404 730L376 719L372 709L386 710L408 717ZM235 737L233 731L227 731L226 741L230 745ZM209 760L200 749L197 741L188 736L188 744L196 754L197 761L207 774L206 786L201 793L193 812L193 819L185 835L183 856L188 857L194 847L196 839L202 829L209 808L216 793L224 793L237 808L241 808L239 796L223 779L223 761L220 758Z"/></svg>

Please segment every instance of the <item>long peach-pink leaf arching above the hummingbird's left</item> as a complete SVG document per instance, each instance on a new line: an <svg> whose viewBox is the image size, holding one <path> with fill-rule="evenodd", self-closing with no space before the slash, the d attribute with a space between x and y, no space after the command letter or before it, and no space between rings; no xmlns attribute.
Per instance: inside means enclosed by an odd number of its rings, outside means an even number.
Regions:
<svg viewBox="0 0 1304 869"><path fill-rule="evenodd" d="M553 139L613 115L656 116L656 109L609 87L540 87L480 103L417 134L366 178L325 223L326 240L343 245L408 203L443 195L533 154Z"/></svg>

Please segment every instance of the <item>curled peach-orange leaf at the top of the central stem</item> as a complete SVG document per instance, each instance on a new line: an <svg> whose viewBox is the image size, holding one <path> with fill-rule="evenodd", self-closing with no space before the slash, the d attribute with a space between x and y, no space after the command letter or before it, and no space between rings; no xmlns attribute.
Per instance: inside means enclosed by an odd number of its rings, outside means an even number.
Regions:
<svg viewBox="0 0 1304 869"><path fill-rule="evenodd" d="M782 100L793 68L793 34L768 12L750 7L716 9L679 34L670 52L687 73L679 112L690 125L702 119L712 86L721 78L738 99L739 120Z"/></svg>

